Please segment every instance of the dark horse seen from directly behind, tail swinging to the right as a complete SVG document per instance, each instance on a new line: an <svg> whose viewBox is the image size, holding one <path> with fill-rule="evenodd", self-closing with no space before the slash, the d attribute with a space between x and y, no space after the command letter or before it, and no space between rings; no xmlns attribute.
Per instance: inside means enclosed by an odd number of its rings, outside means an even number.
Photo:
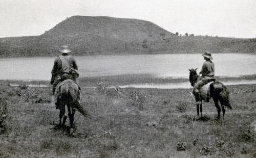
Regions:
<svg viewBox="0 0 256 158"><path fill-rule="evenodd" d="M85 111L78 101L78 86L75 82L69 81L59 87L59 126L63 128L67 120L65 106L68 107L69 122L70 122L70 135L74 131L74 115L77 109L83 116L88 117L89 114ZM62 121L63 117L63 121Z"/></svg>

